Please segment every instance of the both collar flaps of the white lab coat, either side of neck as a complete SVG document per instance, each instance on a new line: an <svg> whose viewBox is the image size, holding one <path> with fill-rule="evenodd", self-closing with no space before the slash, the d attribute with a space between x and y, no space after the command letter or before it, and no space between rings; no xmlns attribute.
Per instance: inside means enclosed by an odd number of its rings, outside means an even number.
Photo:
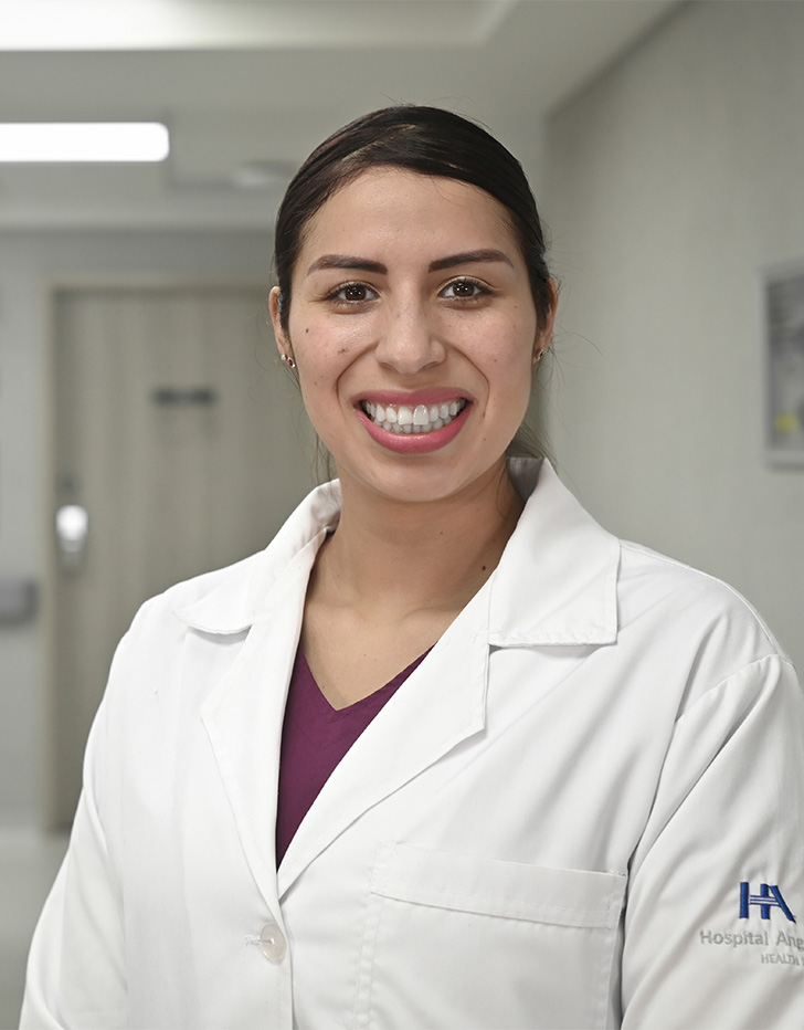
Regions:
<svg viewBox="0 0 804 1030"><path fill-rule="evenodd" d="M491 580L491 647L594 645L617 635L620 542L584 511L547 461L514 459L511 479L526 498L519 524ZM232 634L264 611L272 587L295 556L315 553L337 526L340 486L319 486L253 558L251 575L237 566L211 591L177 610L193 629Z"/></svg>

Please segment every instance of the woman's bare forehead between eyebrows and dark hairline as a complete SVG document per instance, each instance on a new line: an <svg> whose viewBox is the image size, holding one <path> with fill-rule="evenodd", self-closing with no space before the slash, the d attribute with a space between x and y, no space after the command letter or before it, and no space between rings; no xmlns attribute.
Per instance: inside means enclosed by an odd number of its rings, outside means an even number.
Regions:
<svg viewBox="0 0 804 1030"><path fill-rule="evenodd" d="M300 261L319 251L363 253L410 246L458 252L484 246L514 261L519 246L507 209L490 193L440 176L395 167L361 172L340 187L309 220Z"/></svg>

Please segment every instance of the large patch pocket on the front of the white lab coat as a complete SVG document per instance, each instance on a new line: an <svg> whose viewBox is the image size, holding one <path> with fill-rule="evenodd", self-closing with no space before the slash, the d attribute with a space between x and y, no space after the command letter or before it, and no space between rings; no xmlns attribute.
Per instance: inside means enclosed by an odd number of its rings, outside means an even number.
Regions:
<svg viewBox="0 0 804 1030"><path fill-rule="evenodd" d="M359 1028L602 1028L626 879L382 844Z"/></svg>

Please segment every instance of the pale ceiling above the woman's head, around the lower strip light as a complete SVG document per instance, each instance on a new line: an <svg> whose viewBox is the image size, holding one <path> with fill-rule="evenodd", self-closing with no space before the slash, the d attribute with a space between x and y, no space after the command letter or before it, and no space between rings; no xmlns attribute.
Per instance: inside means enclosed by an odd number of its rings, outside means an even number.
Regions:
<svg viewBox="0 0 804 1030"><path fill-rule="evenodd" d="M546 115L678 0L0 0L0 122L163 120L155 166L0 166L0 227L265 224L326 135L395 102L532 169Z"/></svg>

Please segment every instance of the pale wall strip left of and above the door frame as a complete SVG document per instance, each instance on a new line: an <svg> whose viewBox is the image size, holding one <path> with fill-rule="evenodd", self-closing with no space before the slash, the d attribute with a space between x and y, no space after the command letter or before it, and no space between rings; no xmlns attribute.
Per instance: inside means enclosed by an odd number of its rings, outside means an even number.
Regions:
<svg viewBox="0 0 804 1030"><path fill-rule="evenodd" d="M268 219L265 219L267 225ZM0 576L41 582L52 513L43 503L45 287L93 276L268 281L263 232L3 232L0 240ZM0 624L0 824L40 818L39 618Z"/></svg>

